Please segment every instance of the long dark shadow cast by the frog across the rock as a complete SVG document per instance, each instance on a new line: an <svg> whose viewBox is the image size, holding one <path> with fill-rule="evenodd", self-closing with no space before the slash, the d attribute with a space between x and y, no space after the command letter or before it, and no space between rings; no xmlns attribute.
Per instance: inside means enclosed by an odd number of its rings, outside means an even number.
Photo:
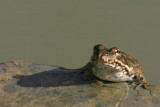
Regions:
<svg viewBox="0 0 160 107"><path fill-rule="evenodd" d="M89 84L84 79L82 70L67 70L64 68L57 68L27 76L17 75L14 78L19 79L17 85L23 87L58 87Z"/></svg>

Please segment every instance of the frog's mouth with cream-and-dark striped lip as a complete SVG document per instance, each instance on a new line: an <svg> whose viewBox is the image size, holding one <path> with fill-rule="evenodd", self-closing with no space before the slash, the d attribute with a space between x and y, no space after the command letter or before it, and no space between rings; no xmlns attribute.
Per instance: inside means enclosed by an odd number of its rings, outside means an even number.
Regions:
<svg viewBox="0 0 160 107"><path fill-rule="evenodd" d="M118 71L123 71L123 72L131 72L133 70L133 67L129 67L128 65L122 63L120 60L116 58L111 58L109 56L102 56L102 60L105 65L114 68Z"/></svg>

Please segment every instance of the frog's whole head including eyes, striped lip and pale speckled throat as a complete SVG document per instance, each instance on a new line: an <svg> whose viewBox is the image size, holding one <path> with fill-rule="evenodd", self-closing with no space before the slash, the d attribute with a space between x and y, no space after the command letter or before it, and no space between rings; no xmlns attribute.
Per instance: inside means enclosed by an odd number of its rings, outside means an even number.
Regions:
<svg viewBox="0 0 160 107"><path fill-rule="evenodd" d="M102 80L132 81L135 75L130 74L133 67L127 60L127 55L117 47L108 49L102 44L96 45L90 61L93 75Z"/></svg>

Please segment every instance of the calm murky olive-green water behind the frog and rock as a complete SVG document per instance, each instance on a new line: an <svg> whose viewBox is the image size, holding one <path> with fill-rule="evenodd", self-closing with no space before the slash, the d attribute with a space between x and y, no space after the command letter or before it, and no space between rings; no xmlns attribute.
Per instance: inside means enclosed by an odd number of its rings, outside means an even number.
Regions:
<svg viewBox="0 0 160 107"><path fill-rule="evenodd" d="M160 1L0 1L1 62L84 66L94 45L119 47L160 84Z"/></svg>

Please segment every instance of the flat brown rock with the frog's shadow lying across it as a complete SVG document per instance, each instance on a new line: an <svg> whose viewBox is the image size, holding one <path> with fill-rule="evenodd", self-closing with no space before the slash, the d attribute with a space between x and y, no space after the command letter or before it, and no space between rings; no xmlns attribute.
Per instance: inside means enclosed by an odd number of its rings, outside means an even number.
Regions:
<svg viewBox="0 0 160 107"><path fill-rule="evenodd" d="M160 86L149 90L127 83L99 86L84 78L84 69L36 65L24 61L0 64L3 107L159 107Z"/></svg>

